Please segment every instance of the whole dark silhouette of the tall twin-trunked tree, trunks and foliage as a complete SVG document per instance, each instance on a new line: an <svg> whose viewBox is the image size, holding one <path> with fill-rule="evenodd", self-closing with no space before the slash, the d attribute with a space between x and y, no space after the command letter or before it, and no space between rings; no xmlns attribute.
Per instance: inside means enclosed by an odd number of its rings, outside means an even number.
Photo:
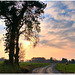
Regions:
<svg viewBox="0 0 75 75"><path fill-rule="evenodd" d="M40 32L41 15L46 4L39 1L0 1L0 15L5 19L6 25L6 52L9 52L9 61L19 64L19 37L25 35L25 39L31 41L31 37L37 38L35 31ZM34 43L36 45L37 41Z"/></svg>

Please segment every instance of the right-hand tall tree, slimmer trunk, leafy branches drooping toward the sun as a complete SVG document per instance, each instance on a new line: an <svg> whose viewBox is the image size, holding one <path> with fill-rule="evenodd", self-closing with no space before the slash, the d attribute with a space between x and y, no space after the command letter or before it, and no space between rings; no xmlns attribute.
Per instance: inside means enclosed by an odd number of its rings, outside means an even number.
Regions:
<svg viewBox="0 0 75 75"><path fill-rule="evenodd" d="M19 54L18 44L20 34L25 33L25 38L31 40L30 38L35 36L34 31L40 32L40 22L38 19L41 18L41 13L44 13L43 10L46 7L46 4L38 1L26 1L22 3L22 7L18 16L19 25L16 34L16 63L18 63L19 58L17 56ZM24 27L24 30L21 30L22 27Z"/></svg>

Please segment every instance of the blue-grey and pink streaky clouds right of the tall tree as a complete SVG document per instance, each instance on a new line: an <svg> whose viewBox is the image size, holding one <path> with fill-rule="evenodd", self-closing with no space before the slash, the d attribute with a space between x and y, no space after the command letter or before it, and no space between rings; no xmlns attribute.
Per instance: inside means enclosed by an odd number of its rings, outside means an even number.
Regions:
<svg viewBox="0 0 75 75"><path fill-rule="evenodd" d="M75 2L47 2L41 22L40 44L56 48L75 48Z"/></svg>

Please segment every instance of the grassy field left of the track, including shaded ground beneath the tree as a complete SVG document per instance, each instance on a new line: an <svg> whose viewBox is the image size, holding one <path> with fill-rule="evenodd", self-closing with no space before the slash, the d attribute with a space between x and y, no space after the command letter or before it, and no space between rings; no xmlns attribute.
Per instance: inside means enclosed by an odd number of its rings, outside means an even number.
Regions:
<svg viewBox="0 0 75 75"><path fill-rule="evenodd" d="M20 68L17 65L4 64L0 62L0 73L23 73L22 70L28 70L28 73L31 73L34 68L43 67L50 65L50 63L30 63L23 62L20 63Z"/></svg>

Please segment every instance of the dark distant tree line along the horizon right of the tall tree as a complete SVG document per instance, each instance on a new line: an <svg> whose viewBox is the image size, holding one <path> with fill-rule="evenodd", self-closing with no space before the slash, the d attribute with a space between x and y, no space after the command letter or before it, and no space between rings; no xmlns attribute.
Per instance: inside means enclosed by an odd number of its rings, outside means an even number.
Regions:
<svg viewBox="0 0 75 75"><path fill-rule="evenodd" d="M34 57L29 62L44 62L44 63L75 63L75 59L68 60L67 58L62 58L62 60L56 60L53 57L50 59L45 59L44 57Z"/></svg>

